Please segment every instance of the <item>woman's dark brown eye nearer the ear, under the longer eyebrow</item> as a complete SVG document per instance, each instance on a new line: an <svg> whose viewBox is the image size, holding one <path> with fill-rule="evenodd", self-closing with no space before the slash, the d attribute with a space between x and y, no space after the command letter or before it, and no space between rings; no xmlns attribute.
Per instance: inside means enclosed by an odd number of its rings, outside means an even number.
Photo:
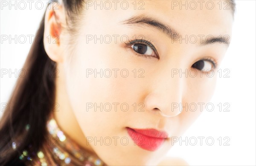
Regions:
<svg viewBox="0 0 256 166"><path fill-rule="evenodd" d="M157 49L151 44L151 42L143 39L135 39L133 41L129 41L126 45L132 48L137 56L144 56L145 58L155 57L159 59Z"/></svg>

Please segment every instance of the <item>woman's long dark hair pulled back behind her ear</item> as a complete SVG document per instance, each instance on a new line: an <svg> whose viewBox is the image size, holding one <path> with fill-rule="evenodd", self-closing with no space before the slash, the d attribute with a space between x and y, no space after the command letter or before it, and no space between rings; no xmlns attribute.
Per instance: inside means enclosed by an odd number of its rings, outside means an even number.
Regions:
<svg viewBox="0 0 256 166"><path fill-rule="evenodd" d="M235 12L233 0L231 7ZM85 5L85 0L63 0L67 21L72 25L78 20ZM24 149L37 152L42 143L47 140L46 123L53 110L55 101L55 79L52 73L56 63L52 61L44 50L44 17L41 20L36 37L27 56L23 69L31 70L28 75L19 78L15 89L3 113L0 125L0 165L16 165L20 163L19 156ZM43 72L42 72L43 71ZM26 128L29 127L29 130ZM19 143L19 140L23 140ZM12 148L12 143L16 148Z"/></svg>

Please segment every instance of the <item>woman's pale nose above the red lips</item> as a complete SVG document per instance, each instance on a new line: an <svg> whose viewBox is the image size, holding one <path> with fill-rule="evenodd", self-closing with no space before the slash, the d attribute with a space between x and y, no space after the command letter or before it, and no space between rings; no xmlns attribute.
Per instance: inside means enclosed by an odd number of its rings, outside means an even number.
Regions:
<svg viewBox="0 0 256 166"><path fill-rule="evenodd" d="M182 112L185 79L165 76L153 81L151 90L145 96L145 110L159 113L164 117L174 117Z"/></svg>

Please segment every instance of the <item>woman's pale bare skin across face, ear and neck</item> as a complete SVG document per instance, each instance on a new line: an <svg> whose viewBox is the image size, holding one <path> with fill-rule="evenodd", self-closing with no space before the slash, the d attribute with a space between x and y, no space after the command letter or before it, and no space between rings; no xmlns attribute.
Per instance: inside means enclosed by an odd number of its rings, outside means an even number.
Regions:
<svg viewBox="0 0 256 166"><path fill-rule="evenodd" d="M86 10L79 20L79 35L70 35L66 27L64 9L47 9L44 46L49 57L57 62L56 99L59 104L54 117L67 135L88 151L95 153L108 165L188 165L184 160L164 158L172 147L170 138L180 136L198 118L200 110L180 111L172 109L172 103L207 103L212 97L217 76L200 77L192 68L201 59L214 59L218 64L227 51L227 44L174 41L163 31L150 25L122 24L134 16L154 18L174 28L183 38L188 35L228 35L231 37L233 16L230 10L172 9L172 1L145 1L145 10ZM131 2L132 3L132 2ZM217 3L217 2L216 2ZM55 14L53 14L55 12ZM97 25L102 26L97 26ZM62 28L61 28L62 27ZM157 49L148 46L144 56L138 56L132 47L120 42L100 43L87 41L88 35L143 35ZM47 41L48 36L58 35L59 44ZM71 37L74 39L71 40ZM204 37L203 37L204 40ZM72 41L72 43L70 43ZM158 55L157 58L155 55ZM212 70L214 64L205 61ZM87 69L143 69L144 78L87 76ZM173 69L195 70L197 77L171 76ZM86 110L87 103L144 103L144 112L129 110ZM199 108L198 108L199 109ZM168 116L162 116L161 113ZM168 133L162 146L148 151L134 146L126 127L154 128ZM88 142L87 138L127 137L129 143L110 146ZM125 154L125 155L124 155Z"/></svg>

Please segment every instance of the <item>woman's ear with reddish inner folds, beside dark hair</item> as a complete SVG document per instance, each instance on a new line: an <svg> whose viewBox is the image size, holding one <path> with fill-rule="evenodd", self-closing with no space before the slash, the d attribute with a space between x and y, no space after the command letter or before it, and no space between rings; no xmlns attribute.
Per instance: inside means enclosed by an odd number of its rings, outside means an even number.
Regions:
<svg viewBox="0 0 256 166"><path fill-rule="evenodd" d="M65 27L64 8L60 4L58 8L52 7L45 13L44 18L44 49L55 62L63 62L63 41L61 41L62 27Z"/></svg>

